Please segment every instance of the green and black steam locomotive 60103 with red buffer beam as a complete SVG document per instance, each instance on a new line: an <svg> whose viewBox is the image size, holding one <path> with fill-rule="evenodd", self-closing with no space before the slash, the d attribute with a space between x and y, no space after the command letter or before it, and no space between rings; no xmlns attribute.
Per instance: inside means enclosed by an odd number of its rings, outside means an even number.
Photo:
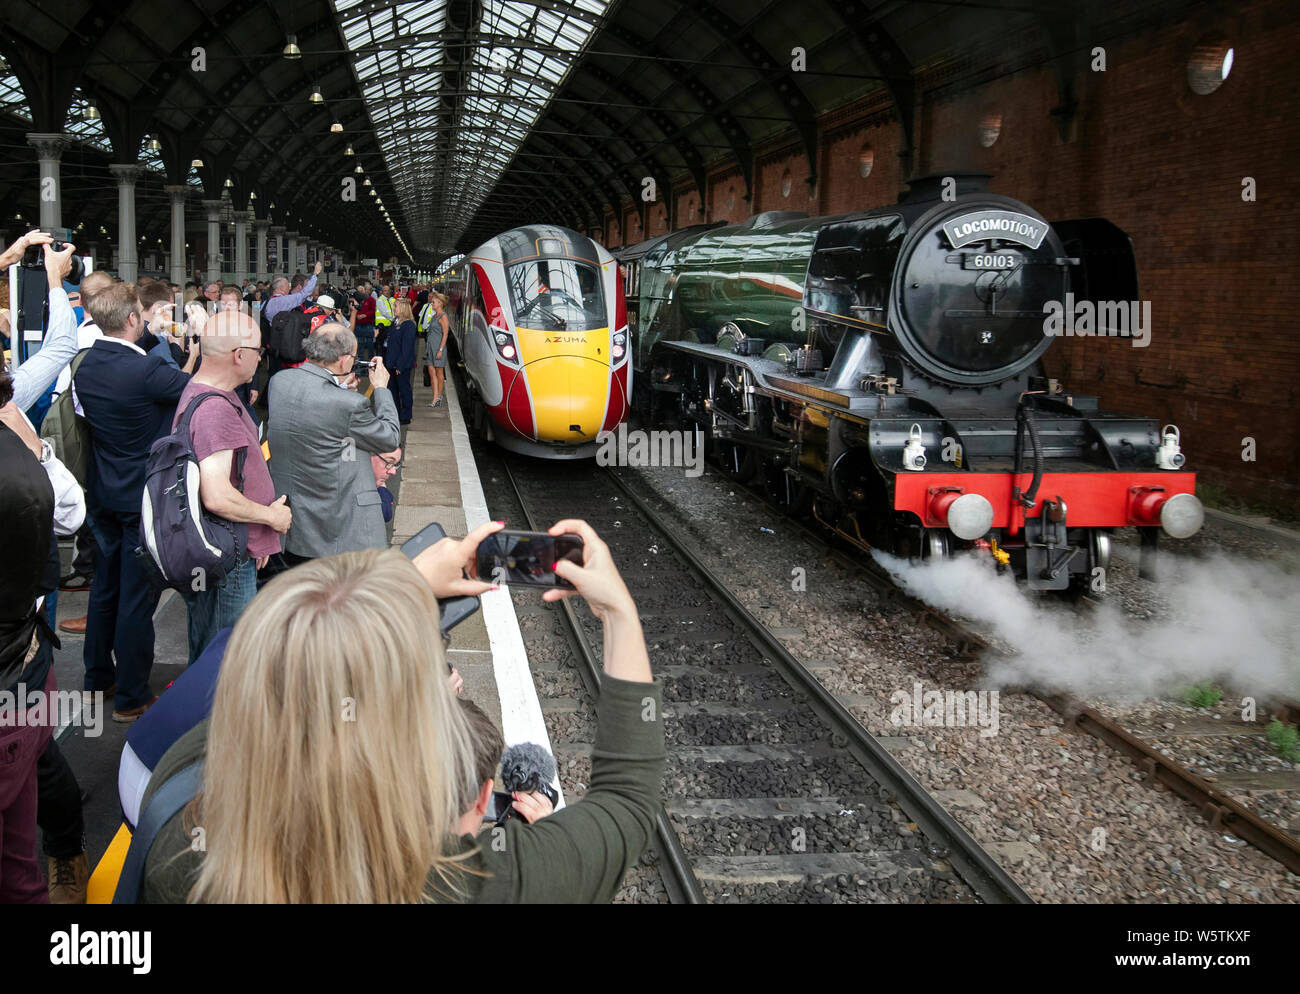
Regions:
<svg viewBox="0 0 1300 994"><path fill-rule="evenodd" d="M1204 520L1178 429L1101 411L1041 365L1066 305L1104 322L1079 331L1134 334L1132 246L987 181L923 177L889 207L621 249L637 403L863 550L976 548L1031 589L1087 591L1112 531L1135 526L1154 578L1160 533Z"/></svg>

